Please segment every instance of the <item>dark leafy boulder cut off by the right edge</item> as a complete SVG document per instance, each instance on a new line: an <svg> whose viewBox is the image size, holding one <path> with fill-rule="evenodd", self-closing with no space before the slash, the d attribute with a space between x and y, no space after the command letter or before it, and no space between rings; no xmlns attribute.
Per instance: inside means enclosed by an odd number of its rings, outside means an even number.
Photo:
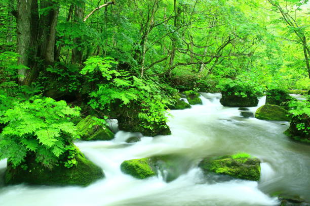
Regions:
<svg viewBox="0 0 310 206"><path fill-rule="evenodd" d="M304 125L303 129L298 125ZM290 127L285 134L293 139L301 142L310 143L310 117L307 114L302 114L292 118Z"/></svg>

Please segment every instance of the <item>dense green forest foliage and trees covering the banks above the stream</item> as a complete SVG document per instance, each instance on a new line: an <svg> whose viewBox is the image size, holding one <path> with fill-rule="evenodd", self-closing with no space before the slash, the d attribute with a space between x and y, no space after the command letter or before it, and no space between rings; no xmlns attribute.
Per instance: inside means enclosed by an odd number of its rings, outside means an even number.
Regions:
<svg viewBox="0 0 310 206"><path fill-rule="evenodd" d="M32 153L51 168L66 156L72 167L76 105L101 119L136 113L153 130L167 128L179 91L308 90L308 7L307 0L0 0L0 159L17 166ZM292 107L308 116L308 106ZM308 134L305 124L298 128Z"/></svg>

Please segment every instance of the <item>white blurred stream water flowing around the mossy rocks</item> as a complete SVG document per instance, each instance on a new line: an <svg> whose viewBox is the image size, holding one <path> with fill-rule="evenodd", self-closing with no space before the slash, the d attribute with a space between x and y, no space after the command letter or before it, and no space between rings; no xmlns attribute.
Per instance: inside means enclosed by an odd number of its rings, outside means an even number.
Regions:
<svg viewBox="0 0 310 206"><path fill-rule="evenodd" d="M279 205L274 192L299 194L310 200L310 146L283 132L288 122L243 118L238 108L220 105L220 94L202 93L203 105L174 110L170 136L143 137L126 143L132 134L119 131L111 141L78 142L85 155L102 167L106 178L88 187L0 185L1 206L211 206ZM259 106L264 104L261 98ZM255 112L256 108L250 108ZM206 176L197 167L204 157L247 152L261 160L259 182ZM124 160L156 155L175 157L179 176L165 173L144 180L120 170ZM0 161L0 173L6 167Z"/></svg>

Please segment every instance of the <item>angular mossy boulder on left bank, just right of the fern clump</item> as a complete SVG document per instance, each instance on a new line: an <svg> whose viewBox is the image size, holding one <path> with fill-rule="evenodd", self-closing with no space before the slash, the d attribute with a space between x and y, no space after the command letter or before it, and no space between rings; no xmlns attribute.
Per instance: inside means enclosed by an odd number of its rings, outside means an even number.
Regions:
<svg viewBox="0 0 310 206"><path fill-rule="evenodd" d="M114 138L113 132L108 127L96 125L96 120L90 115L81 120L76 125L76 129L83 140L111 140Z"/></svg>

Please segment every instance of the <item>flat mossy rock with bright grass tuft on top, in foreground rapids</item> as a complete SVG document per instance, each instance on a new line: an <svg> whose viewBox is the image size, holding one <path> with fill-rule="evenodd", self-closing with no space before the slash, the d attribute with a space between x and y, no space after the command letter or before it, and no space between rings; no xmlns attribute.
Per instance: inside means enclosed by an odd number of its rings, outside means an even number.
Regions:
<svg viewBox="0 0 310 206"><path fill-rule="evenodd" d="M260 161L256 158L224 156L204 159L199 167L205 172L214 172L231 177L258 181L260 178Z"/></svg>

